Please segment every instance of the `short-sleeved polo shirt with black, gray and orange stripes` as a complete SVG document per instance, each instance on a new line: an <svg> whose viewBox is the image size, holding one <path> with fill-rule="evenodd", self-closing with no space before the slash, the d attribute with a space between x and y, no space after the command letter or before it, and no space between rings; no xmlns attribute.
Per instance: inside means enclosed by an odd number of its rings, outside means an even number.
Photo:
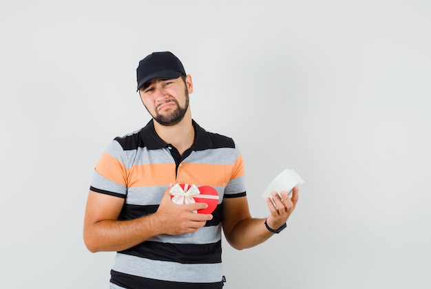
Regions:
<svg viewBox="0 0 431 289"><path fill-rule="evenodd" d="M194 120L193 127L193 146L180 159L151 120L115 138L96 164L90 189L125 199L119 220L156 212L169 184L212 186L219 195L213 219L195 233L159 235L118 252L111 288L222 288L222 201L246 195L244 165L231 138L207 132Z"/></svg>

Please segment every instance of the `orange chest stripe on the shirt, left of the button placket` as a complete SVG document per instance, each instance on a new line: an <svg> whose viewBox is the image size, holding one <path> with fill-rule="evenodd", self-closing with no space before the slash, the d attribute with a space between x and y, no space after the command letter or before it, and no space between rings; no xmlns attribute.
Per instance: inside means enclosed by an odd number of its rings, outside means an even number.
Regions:
<svg viewBox="0 0 431 289"><path fill-rule="evenodd" d="M175 164L138 164L129 169L127 186L165 186L175 184Z"/></svg>

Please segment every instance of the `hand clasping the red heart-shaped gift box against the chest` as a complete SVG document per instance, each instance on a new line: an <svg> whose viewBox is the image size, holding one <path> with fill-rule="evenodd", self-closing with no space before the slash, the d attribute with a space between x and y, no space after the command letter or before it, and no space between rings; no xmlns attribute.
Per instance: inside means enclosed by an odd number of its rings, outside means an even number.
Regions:
<svg viewBox="0 0 431 289"><path fill-rule="evenodd" d="M172 185L167 188L154 217L156 226L160 226L162 233L167 235L179 235L194 233L213 218L211 214L193 213L193 211L207 208L206 203L175 204L171 200Z"/></svg>

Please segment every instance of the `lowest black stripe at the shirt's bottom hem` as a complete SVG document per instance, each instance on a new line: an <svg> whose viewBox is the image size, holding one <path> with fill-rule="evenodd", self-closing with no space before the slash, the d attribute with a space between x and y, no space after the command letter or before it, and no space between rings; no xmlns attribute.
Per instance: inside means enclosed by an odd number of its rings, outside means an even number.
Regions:
<svg viewBox="0 0 431 289"><path fill-rule="evenodd" d="M128 289L222 289L223 281L215 283L186 283L162 281L128 275L111 270L112 283Z"/></svg>

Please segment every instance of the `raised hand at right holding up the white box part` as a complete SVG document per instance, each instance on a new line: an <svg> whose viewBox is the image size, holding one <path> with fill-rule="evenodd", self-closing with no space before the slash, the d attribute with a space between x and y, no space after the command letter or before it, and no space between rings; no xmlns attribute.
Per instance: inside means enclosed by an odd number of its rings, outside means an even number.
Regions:
<svg viewBox="0 0 431 289"><path fill-rule="evenodd" d="M276 230L286 223L288 217L295 210L296 203L299 197L299 188L295 186L292 191L292 197L288 196L286 191L281 191L280 195L276 191L271 193L272 200L270 197L266 198L266 204L268 205L271 215L266 218L268 226Z"/></svg>

